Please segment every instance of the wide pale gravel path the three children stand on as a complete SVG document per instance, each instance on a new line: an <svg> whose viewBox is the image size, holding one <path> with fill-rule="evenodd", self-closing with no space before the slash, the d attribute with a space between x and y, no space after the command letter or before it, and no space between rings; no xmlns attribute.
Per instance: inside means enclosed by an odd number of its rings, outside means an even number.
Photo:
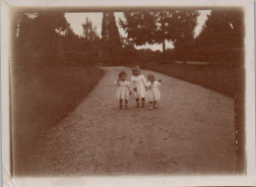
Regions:
<svg viewBox="0 0 256 187"><path fill-rule="evenodd" d="M118 110L107 67L93 92L39 142L36 175L233 174L234 101L152 71L162 80L159 108Z"/></svg>

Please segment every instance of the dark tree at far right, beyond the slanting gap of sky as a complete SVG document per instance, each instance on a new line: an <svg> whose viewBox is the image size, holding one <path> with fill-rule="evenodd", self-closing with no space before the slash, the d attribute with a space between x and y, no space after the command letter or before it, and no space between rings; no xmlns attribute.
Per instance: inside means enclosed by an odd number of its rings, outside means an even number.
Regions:
<svg viewBox="0 0 256 187"><path fill-rule="evenodd" d="M207 56L208 60L232 63L242 60L243 39L244 25L241 10L213 10L203 31L196 39L196 48L198 53Z"/></svg>

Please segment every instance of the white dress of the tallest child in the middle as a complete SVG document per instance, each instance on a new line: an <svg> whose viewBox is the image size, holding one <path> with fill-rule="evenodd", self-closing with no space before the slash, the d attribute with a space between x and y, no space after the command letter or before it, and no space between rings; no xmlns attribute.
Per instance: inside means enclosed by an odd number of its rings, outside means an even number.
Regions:
<svg viewBox="0 0 256 187"><path fill-rule="evenodd" d="M133 90L133 94L136 98L142 98L146 97L146 89L145 87L147 86L147 81L144 77L144 75L139 75L139 76L132 76L131 77L131 87L134 89L137 89L137 92Z"/></svg>

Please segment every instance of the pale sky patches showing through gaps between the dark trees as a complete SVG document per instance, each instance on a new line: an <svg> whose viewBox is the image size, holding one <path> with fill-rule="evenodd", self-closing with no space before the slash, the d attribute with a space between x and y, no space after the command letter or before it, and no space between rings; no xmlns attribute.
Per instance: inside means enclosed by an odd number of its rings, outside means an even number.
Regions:
<svg viewBox="0 0 256 187"><path fill-rule="evenodd" d="M205 22L207 20L207 15L211 14L210 10L200 10L200 15L197 18L197 27L195 28L195 36L198 36L200 34L200 31L202 31L203 26L205 25ZM119 19L125 20L124 15L122 12L115 12L115 21L116 25L118 27L118 31L120 35L126 36L125 31L119 26L118 21ZM93 22L93 25L96 26L96 31L99 37L101 37L101 22L102 22L102 13L66 13L65 14L66 20L69 22L70 27L72 30L78 34L83 35L83 27L82 24L85 23L86 18L89 18ZM166 41L166 48L173 48L171 41ZM135 46L137 49L142 48L150 48L154 51L160 50L161 51L161 44L145 44L141 46Z"/></svg>

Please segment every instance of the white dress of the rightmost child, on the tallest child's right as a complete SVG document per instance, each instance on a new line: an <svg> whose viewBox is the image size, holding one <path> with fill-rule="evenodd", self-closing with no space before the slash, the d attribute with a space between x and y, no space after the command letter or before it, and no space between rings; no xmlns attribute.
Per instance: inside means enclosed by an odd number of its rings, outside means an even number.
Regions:
<svg viewBox="0 0 256 187"><path fill-rule="evenodd" d="M148 93L147 93L147 100L152 101L159 101L160 100L160 82L155 81L153 84L148 82Z"/></svg>

